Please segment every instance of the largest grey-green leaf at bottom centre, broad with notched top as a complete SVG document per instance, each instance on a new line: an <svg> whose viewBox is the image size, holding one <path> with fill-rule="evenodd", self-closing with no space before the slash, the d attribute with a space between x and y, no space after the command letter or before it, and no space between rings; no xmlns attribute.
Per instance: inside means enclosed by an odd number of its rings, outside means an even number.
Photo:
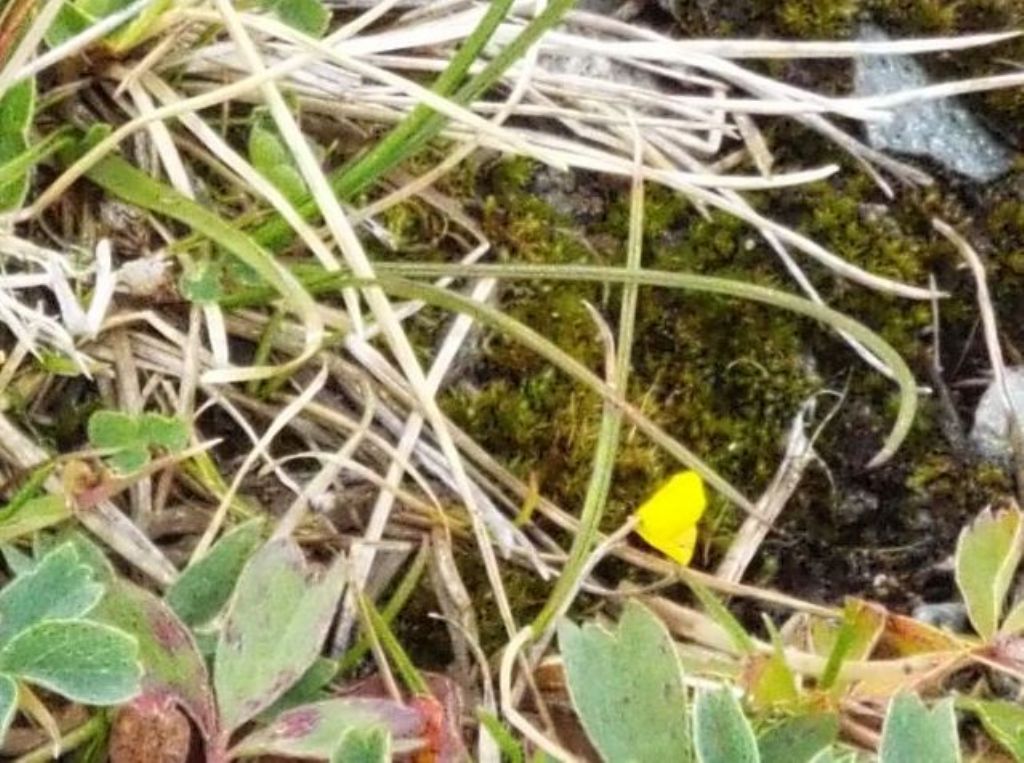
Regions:
<svg viewBox="0 0 1024 763"><path fill-rule="evenodd" d="M607 761L687 760L686 690L662 622L630 601L614 631L558 625L572 705Z"/></svg>

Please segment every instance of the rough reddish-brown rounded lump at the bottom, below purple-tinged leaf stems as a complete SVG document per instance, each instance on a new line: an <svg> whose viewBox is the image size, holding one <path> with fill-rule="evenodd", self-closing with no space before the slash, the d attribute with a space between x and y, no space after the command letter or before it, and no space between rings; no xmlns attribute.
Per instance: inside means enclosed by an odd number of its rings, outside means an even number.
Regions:
<svg viewBox="0 0 1024 763"><path fill-rule="evenodd" d="M111 763L185 763L188 719L167 695L143 694L118 710L111 729Z"/></svg>

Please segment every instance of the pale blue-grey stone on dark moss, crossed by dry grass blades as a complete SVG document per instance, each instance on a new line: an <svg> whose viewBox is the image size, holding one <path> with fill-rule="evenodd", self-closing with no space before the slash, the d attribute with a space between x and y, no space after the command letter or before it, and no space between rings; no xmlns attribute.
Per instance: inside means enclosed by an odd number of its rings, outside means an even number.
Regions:
<svg viewBox="0 0 1024 763"><path fill-rule="evenodd" d="M877 27L865 25L861 40L888 40ZM907 55L863 55L854 63L854 94L883 95L933 84L925 69ZM915 157L931 157L943 167L979 182L1007 172L1013 152L1000 143L961 102L952 98L923 100L893 110L888 122L867 125L874 149Z"/></svg>

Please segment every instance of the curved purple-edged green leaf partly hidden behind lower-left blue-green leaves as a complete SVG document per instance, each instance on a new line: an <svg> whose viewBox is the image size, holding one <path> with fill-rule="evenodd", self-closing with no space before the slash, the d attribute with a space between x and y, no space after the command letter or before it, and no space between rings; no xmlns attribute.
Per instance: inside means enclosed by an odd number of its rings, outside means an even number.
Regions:
<svg viewBox="0 0 1024 763"><path fill-rule="evenodd" d="M93 617L133 636L147 694L173 696L210 738L216 710L206 663L187 627L157 596L124 580L113 582Z"/></svg>

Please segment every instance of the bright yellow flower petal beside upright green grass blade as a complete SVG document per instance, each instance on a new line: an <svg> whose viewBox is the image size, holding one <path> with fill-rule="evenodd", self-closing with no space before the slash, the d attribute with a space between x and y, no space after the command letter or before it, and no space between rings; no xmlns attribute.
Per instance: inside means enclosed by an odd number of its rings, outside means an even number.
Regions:
<svg viewBox="0 0 1024 763"><path fill-rule="evenodd" d="M637 533L666 556L689 564L707 505L700 475L681 471L637 509Z"/></svg>

